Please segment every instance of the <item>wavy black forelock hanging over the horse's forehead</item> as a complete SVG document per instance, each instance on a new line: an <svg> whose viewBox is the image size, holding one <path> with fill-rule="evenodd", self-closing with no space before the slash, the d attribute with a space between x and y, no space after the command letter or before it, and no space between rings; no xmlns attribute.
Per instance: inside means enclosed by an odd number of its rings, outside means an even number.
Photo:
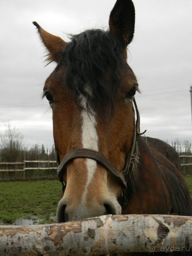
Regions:
<svg viewBox="0 0 192 256"><path fill-rule="evenodd" d="M59 66L65 67L65 80L74 92L77 104L82 94L87 99L90 113L99 108L104 114L109 105L112 115L114 95L121 86L120 70L124 63L121 45L109 31L86 30L71 36Z"/></svg>

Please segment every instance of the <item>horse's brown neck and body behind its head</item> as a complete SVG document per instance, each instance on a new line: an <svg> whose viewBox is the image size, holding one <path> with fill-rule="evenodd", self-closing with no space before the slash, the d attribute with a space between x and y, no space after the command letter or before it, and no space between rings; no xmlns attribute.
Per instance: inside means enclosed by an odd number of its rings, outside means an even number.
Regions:
<svg viewBox="0 0 192 256"><path fill-rule="evenodd" d="M137 189L129 191L128 207L123 214L191 216L192 202L176 151L161 140L142 137L138 148Z"/></svg>

